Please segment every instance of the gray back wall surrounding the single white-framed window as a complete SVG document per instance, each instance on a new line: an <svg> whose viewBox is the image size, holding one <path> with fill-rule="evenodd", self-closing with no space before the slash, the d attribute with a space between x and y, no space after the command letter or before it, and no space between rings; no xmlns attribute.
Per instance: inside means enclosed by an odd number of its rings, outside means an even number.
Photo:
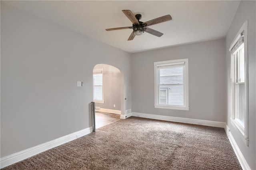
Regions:
<svg viewBox="0 0 256 170"><path fill-rule="evenodd" d="M154 62L188 58L189 111L154 108ZM225 122L225 40L132 54L132 112Z"/></svg>

